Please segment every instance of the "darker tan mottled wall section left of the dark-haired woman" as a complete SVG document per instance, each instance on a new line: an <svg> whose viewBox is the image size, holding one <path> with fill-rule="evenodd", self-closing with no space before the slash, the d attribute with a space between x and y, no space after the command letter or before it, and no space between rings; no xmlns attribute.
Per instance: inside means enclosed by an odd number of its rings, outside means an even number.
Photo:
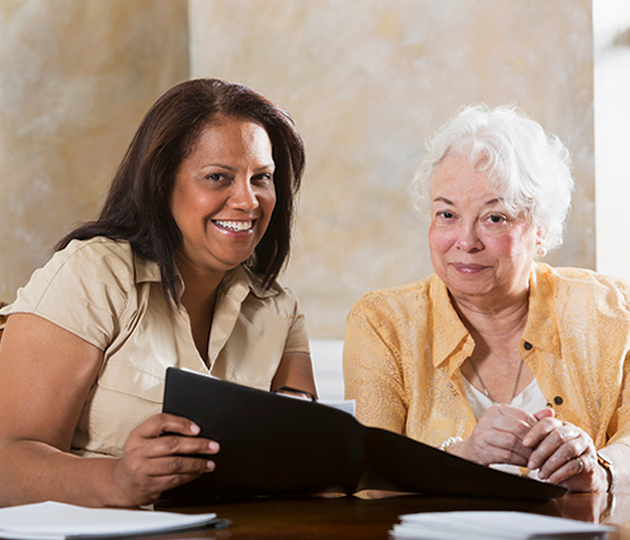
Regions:
<svg viewBox="0 0 630 540"><path fill-rule="evenodd" d="M186 0L0 0L0 299L95 216L150 104L188 77Z"/></svg>

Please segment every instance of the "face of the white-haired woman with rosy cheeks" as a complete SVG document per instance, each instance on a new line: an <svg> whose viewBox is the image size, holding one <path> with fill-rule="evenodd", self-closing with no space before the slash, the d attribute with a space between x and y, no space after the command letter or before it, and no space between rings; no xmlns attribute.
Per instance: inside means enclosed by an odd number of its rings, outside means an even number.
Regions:
<svg viewBox="0 0 630 540"><path fill-rule="evenodd" d="M429 245L456 300L509 302L526 291L537 238L529 216L508 212L468 158L447 155L433 175Z"/></svg>

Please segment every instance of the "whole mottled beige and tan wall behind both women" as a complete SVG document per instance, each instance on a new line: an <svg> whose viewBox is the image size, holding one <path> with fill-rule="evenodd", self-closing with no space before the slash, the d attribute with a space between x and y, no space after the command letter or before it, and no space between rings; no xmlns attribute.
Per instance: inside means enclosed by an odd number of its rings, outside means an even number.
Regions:
<svg viewBox="0 0 630 540"><path fill-rule="evenodd" d="M197 76L259 90L305 138L282 281L312 337L431 272L407 186L462 104L515 102L567 143L578 191L547 260L594 268L592 49L590 0L0 0L0 298L95 214L155 98Z"/></svg>

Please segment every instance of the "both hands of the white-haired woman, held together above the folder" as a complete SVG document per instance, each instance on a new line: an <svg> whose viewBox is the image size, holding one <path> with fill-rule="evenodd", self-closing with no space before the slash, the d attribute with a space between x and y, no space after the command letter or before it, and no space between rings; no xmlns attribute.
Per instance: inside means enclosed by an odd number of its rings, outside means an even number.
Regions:
<svg viewBox="0 0 630 540"><path fill-rule="evenodd" d="M494 405L452 452L483 465L507 463L538 469L539 479L571 491L606 491L608 487L591 437L555 418L550 408L530 414L510 405Z"/></svg>

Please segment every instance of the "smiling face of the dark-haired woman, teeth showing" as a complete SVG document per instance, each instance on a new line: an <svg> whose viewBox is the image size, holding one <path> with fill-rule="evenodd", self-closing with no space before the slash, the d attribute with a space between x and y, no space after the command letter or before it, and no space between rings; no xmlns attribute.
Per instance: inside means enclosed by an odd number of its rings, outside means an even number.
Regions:
<svg viewBox="0 0 630 540"><path fill-rule="evenodd" d="M177 172L170 209L181 233L178 263L222 275L246 261L276 204L265 129L222 118L208 125Z"/></svg>

